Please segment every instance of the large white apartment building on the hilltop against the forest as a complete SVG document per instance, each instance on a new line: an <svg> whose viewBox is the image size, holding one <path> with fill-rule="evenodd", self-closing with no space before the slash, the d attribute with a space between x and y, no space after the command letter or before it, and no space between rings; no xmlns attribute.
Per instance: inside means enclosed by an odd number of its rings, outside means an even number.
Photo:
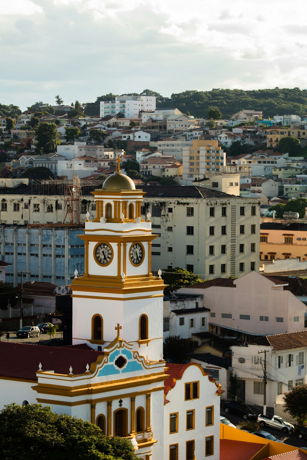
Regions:
<svg viewBox="0 0 307 460"><path fill-rule="evenodd" d="M116 115L122 112L126 118L139 118L140 110L155 110L155 96L116 96L115 101L100 102L100 116Z"/></svg>

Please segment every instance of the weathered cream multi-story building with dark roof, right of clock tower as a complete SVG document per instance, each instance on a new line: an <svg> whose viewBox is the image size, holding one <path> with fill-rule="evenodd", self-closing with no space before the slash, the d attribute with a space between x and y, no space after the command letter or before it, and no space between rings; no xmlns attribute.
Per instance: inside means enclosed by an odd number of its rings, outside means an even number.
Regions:
<svg viewBox="0 0 307 460"><path fill-rule="evenodd" d="M259 270L260 205L195 186L146 186L142 216L151 213L152 269L181 267L205 278Z"/></svg>

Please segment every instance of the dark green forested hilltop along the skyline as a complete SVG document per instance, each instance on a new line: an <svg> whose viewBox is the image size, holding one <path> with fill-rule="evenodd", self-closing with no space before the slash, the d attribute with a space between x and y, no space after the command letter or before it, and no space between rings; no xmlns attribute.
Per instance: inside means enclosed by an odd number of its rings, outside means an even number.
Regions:
<svg viewBox="0 0 307 460"><path fill-rule="evenodd" d="M131 94L131 93L126 93ZM136 93L132 93L136 94ZM240 109L261 110L264 118L273 115L305 115L307 113L307 89L274 88L243 91L240 89L214 88L211 91L184 91L174 93L170 98L144 90L141 95L156 96L156 107L177 108L182 113L199 118L207 118L212 107L220 109L224 119L239 112ZM99 102L114 100L117 94L100 96L94 103L87 104L87 115L99 115Z"/></svg>

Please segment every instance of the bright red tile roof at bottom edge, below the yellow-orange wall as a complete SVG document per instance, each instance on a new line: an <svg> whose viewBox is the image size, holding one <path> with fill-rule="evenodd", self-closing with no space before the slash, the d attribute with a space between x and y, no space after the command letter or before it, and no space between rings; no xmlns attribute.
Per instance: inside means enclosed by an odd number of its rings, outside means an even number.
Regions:
<svg viewBox="0 0 307 460"><path fill-rule="evenodd" d="M220 440L220 460L250 460L265 444Z"/></svg>

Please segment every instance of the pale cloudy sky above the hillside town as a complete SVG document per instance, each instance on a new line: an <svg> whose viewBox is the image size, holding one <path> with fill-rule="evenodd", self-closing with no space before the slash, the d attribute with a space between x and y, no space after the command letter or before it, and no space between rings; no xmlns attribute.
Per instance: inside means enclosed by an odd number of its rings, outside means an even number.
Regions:
<svg viewBox="0 0 307 460"><path fill-rule="evenodd" d="M2 0L0 103L303 89L306 16L285 0Z"/></svg>

